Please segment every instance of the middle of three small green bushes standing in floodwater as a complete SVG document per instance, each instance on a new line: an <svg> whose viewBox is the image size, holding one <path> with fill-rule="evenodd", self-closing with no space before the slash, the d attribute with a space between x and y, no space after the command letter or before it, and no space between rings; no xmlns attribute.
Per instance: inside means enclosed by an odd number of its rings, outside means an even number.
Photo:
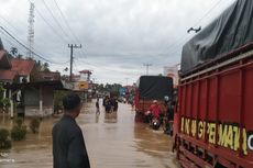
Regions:
<svg viewBox="0 0 253 168"><path fill-rule="evenodd" d="M13 141L22 141L26 135L26 126L23 124L23 120L18 117L15 125L11 128L11 138Z"/></svg>

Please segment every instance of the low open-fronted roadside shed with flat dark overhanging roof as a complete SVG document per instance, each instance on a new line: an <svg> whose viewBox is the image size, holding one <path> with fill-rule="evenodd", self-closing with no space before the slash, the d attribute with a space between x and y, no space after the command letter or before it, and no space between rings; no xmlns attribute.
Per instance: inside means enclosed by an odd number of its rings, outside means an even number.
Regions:
<svg viewBox="0 0 253 168"><path fill-rule="evenodd" d="M54 91L68 90L61 80L12 83L6 86L13 94L21 91L20 101L16 102L18 116L51 116L54 114Z"/></svg>

